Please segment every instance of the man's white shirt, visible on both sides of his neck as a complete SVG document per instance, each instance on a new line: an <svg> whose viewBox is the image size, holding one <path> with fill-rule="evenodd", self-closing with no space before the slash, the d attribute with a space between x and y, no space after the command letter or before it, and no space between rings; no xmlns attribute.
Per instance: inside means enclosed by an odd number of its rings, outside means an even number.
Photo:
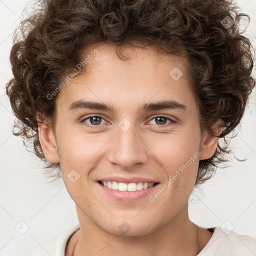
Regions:
<svg viewBox="0 0 256 256"><path fill-rule="evenodd" d="M64 229L52 237L31 256L65 256L65 247L69 237L79 229L79 224ZM219 226L207 228L213 231L207 244L196 256L255 256L256 238L223 230Z"/></svg>

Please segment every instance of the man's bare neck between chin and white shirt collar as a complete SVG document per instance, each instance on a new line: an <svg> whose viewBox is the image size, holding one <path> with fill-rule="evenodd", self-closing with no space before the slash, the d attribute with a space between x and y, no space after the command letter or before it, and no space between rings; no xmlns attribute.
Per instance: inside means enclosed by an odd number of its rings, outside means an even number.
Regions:
<svg viewBox="0 0 256 256"><path fill-rule="evenodd" d="M140 236L116 236L107 233L87 218L78 206L76 208L80 229L77 231L78 239L72 256L102 253L105 256L113 253L122 256L196 255L210 238L208 232L205 239L206 229L197 227L189 220L187 204L169 223Z"/></svg>

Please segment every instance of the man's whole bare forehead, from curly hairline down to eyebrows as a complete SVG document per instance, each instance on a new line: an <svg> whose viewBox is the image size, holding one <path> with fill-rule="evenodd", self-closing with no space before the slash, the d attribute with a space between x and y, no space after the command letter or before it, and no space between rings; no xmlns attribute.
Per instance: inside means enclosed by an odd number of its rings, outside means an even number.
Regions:
<svg viewBox="0 0 256 256"><path fill-rule="evenodd" d="M128 59L119 58L116 51ZM85 72L68 81L59 93L61 108L79 99L114 101L116 106L130 108L155 100L194 100L185 58L149 47L123 47L120 53L110 44L90 47L82 56L86 58Z"/></svg>

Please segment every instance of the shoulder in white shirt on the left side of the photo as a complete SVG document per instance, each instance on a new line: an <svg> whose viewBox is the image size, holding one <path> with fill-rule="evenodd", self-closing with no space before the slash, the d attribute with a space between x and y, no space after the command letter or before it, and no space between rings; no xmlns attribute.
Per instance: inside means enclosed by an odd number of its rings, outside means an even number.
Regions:
<svg viewBox="0 0 256 256"><path fill-rule="evenodd" d="M65 247L69 237L79 229L79 224L70 226L55 236L51 237L47 242L43 243L38 249L33 251L31 256L49 256L58 255L65 256Z"/></svg>

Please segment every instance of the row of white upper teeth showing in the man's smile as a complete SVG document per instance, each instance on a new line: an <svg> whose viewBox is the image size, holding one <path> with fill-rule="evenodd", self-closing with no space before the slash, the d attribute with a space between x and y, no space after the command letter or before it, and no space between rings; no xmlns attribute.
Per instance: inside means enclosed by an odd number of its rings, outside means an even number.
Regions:
<svg viewBox="0 0 256 256"><path fill-rule="evenodd" d="M101 184L103 184L105 187L119 190L119 191L136 191L136 190L142 190L146 189L148 187L153 186L153 182L132 182L132 183L123 183L123 182L116 182L116 181L101 181Z"/></svg>

